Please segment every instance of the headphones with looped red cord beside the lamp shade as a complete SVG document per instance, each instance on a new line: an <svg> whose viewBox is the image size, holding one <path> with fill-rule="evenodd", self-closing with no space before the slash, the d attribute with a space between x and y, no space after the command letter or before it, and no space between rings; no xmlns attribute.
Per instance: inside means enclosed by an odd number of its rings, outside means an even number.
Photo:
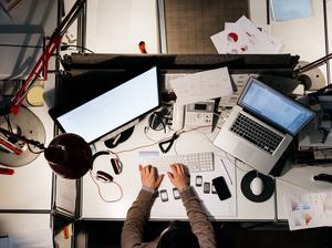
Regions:
<svg viewBox="0 0 332 248"><path fill-rule="evenodd" d="M93 154L92 156L92 169L94 168L94 161L98 157L98 156L102 156L102 155L110 155L110 154L114 154L112 152L108 152L108 151L101 151L101 152L97 152L95 154ZM112 165L112 168L113 168L113 172L118 175L121 174L122 172L122 163L120 162L118 157L116 154L114 154L116 156L116 158L112 157L110 161L111 161L111 165ZM90 170L90 175L91 175L91 178L92 180L95 183L95 185L97 186L97 189L98 189L98 194L101 196L101 198L105 202L105 203L114 203L114 202L117 202L122 198L123 196L123 192L122 192L122 187L120 184L117 184L116 182L114 182L114 178L113 176L111 176L110 173L106 173L104 170L96 170L95 175L93 175L92 173L92 169ZM101 187L98 185L97 182L102 182L102 183L110 183L110 184L115 184L118 189L120 189L120 197L117 199L105 199L101 193Z"/></svg>

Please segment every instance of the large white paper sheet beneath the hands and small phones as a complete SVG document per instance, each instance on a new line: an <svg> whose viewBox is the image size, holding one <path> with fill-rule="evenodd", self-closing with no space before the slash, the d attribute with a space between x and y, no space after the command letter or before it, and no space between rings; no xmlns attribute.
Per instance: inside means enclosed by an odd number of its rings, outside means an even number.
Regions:
<svg viewBox="0 0 332 248"><path fill-rule="evenodd" d="M193 141L194 142L194 141ZM158 153L153 151L141 152L138 156L138 164L151 164L152 161L155 161L158 156ZM236 194L236 167L235 167L235 158L225 152L220 152L218 154L214 154L214 165L215 170L211 172L200 172L200 173L190 173L190 185L194 190L197 193L203 206L206 208L206 213L214 218L226 218L226 217L235 217L237 216L237 194ZM159 173L166 173L169 168L159 167L154 164L158 168ZM218 195L212 192L204 193L203 186L196 185L196 176L201 176L204 183L208 183L210 186L214 178L218 176L222 176L227 183L227 186L230 190L231 197L225 200L220 200ZM212 187L212 186L211 186ZM173 193L174 186L167 176L164 177L159 192L167 192L168 199L166 202L162 200L160 197L157 197L154 206L152 208L152 216L158 216L158 218L163 217L172 217L172 218L183 218L186 217L185 208L180 199L176 199Z"/></svg>

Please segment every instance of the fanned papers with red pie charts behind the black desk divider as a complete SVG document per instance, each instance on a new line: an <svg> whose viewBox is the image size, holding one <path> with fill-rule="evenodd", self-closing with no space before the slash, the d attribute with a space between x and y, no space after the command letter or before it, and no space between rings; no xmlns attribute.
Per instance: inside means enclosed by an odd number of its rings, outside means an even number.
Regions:
<svg viewBox="0 0 332 248"><path fill-rule="evenodd" d="M259 30L246 17L211 37L218 53L248 54L248 53L279 53L282 42Z"/></svg>

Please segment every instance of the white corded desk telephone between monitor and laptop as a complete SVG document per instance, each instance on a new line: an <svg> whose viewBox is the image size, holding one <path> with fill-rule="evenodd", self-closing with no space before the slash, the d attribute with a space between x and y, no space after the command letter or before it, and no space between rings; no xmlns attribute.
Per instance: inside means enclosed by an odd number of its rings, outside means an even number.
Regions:
<svg viewBox="0 0 332 248"><path fill-rule="evenodd" d="M175 103L173 107L173 130L179 131L183 127L193 128L209 125L212 130L214 100L187 105L178 105Z"/></svg>

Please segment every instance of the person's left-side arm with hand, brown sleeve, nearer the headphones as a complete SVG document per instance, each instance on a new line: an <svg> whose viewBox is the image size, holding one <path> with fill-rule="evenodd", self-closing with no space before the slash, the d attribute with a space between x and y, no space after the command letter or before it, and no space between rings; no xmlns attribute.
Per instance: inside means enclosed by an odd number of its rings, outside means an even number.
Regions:
<svg viewBox="0 0 332 248"><path fill-rule="evenodd" d="M164 175L158 176L156 168L139 165L142 189L129 208L121 234L121 247L142 247L144 225L149 217L154 203L154 192L159 187Z"/></svg>

